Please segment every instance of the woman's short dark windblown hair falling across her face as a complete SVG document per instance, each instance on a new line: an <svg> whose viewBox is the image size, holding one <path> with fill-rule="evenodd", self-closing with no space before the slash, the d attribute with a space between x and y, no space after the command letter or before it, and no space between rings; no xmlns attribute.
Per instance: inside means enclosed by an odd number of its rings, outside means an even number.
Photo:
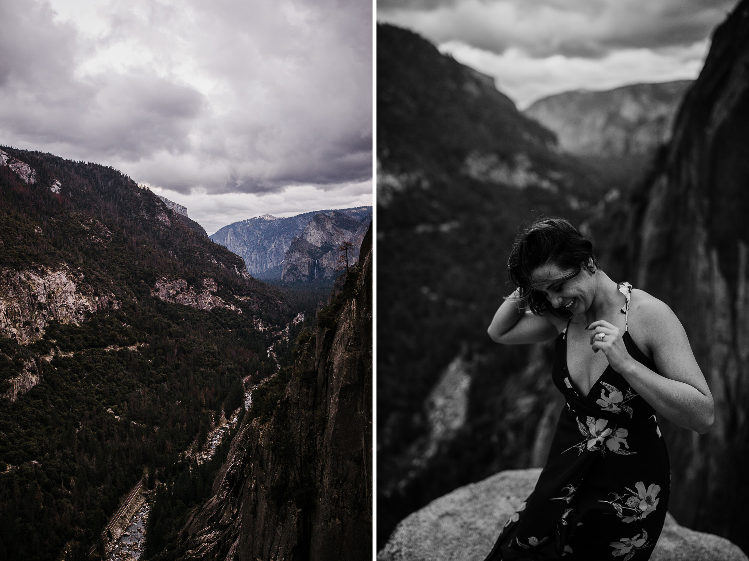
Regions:
<svg viewBox="0 0 749 561"><path fill-rule="evenodd" d="M510 282L515 289L520 289L519 296L533 313L550 312L554 316L568 319L568 310L553 307L546 296L534 288L538 283L533 281L531 273L539 267L554 264L560 269L572 269L573 272L560 278L565 281L588 269L592 260L598 267L598 260L593 255L593 245L564 218L539 218L515 238L512 252L507 260Z"/></svg>

